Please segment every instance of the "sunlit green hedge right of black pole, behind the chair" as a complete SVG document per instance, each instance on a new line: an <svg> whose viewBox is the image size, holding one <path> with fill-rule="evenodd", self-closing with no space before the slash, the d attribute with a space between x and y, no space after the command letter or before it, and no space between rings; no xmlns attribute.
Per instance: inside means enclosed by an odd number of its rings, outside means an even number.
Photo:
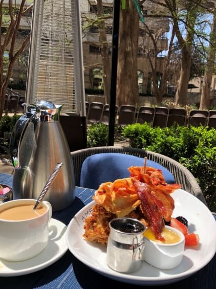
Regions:
<svg viewBox="0 0 216 289"><path fill-rule="evenodd" d="M216 130L208 127L151 128L147 123L124 128L132 147L169 156L197 179L210 210L216 211Z"/></svg>

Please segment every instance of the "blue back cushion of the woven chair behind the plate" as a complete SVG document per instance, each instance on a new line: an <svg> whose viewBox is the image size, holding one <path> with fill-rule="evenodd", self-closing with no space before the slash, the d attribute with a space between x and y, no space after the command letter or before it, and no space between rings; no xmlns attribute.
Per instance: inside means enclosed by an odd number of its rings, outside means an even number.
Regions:
<svg viewBox="0 0 216 289"><path fill-rule="evenodd" d="M131 166L143 166L144 158L119 153L102 153L86 157L82 163L80 187L97 190L103 182L128 178ZM175 183L174 176L160 164L148 160L147 166L162 170L167 183Z"/></svg>

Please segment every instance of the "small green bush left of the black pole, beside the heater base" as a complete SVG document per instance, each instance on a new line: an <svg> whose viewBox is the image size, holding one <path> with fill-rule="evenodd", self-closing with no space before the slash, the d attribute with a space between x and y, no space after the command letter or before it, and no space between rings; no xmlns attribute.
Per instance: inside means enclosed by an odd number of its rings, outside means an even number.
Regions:
<svg viewBox="0 0 216 289"><path fill-rule="evenodd" d="M87 146L107 146L109 128L103 123L94 123L87 129Z"/></svg>

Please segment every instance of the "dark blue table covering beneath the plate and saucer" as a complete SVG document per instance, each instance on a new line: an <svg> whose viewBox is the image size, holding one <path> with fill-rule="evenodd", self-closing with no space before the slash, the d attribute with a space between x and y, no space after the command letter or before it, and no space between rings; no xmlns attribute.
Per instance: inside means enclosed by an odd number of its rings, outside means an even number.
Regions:
<svg viewBox="0 0 216 289"><path fill-rule="evenodd" d="M0 183L12 186L13 176L0 174ZM94 190L76 187L74 203L61 211L54 212L53 218L65 223L86 204ZM136 286L104 277L82 264L68 250L53 265L40 271L15 277L0 277L0 289L216 289L216 255L211 262L194 275L179 282L164 286Z"/></svg>

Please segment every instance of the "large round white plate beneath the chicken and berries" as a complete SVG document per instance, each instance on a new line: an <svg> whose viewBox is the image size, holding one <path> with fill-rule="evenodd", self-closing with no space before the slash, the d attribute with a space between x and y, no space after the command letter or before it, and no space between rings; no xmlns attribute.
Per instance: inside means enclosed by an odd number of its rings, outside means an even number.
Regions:
<svg viewBox="0 0 216 289"><path fill-rule="evenodd" d="M82 234L83 221L91 214L91 202L82 208L68 225L66 242L69 250L85 265L98 273L125 283L138 285L164 285L184 279L204 267L216 252L216 221L209 209L193 195L178 189L172 193L175 200L173 217L184 216L189 222L189 232L199 234L196 248L185 248L181 264L171 270L161 270L143 262L135 273L118 273L106 265L106 246L86 242Z"/></svg>

